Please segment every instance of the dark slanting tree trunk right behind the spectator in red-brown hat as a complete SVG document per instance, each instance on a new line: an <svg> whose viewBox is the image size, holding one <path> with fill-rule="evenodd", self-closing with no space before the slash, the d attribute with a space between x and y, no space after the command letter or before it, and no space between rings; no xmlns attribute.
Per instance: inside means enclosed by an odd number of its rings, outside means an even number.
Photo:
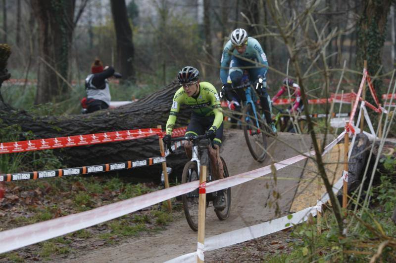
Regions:
<svg viewBox="0 0 396 263"><path fill-rule="evenodd" d="M117 65L123 79L131 80L133 78L134 47L125 0L111 0L111 13L117 37Z"/></svg>

